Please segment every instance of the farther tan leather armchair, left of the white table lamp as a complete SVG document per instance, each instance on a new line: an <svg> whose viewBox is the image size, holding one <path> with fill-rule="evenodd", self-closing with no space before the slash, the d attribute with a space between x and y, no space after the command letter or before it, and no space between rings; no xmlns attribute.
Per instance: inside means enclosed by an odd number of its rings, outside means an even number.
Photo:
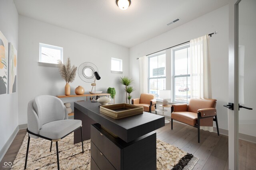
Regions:
<svg viewBox="0 0 256 170"><path fill-rule="evenodd" d="M140 98L132 99L132 104L143 106L144 111L154 111L156 109L156 99L153 94L142 93Z"/></svg>

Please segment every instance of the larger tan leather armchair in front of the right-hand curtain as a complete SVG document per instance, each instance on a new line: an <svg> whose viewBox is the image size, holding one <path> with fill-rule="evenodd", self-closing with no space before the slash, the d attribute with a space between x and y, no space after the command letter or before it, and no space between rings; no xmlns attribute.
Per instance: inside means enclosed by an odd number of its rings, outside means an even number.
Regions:
<svg viewBox="0 0 256 170"><path fill-rule="evenodd" d="M198 143L200 143L200 126L213 126L216 122L219 133L215 99L190 99L189 104L173 104L171 107L171 126L173 119L198 129Z"/></svg>

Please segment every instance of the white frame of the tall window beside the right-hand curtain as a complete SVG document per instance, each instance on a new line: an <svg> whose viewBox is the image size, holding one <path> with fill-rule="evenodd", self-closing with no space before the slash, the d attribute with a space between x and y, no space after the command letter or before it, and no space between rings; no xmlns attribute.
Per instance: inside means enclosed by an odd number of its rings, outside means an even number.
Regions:
<svg viewBox="0 0 256 170"><path fill-rule="evenodd" d="M182 49L187 49L187 48L190 48L190 44L189 43L186 43L185 45L180 45L178 47L174 47L172 48L172 102L174 103L188 103L188 90L186 90L186 96L187 96L187 102L180 102L180 101L176 101L176 98L175 98L175 78L177 77L186 77L187 78L187 88L188 88L188 77L190 77L190 74L188 74L188 50L187 50L187 74L180 74L180 75L175 75L175 51L178 51L178 50L182 50ZM190 89L191 90L191 89Z"/></svg>

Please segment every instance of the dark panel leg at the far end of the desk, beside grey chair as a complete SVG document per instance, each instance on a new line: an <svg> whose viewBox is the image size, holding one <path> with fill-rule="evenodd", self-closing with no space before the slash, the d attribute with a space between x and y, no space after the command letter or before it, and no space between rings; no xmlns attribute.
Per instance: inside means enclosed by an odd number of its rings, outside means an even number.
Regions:
<svg viewBox="0 0 256 170"><path fill-rule="evenodd" d="M82 120L82 131L83 131L83 139L84 141L91 138L91 124L97 123L84 113L82 111L76 109L74 107L74 119ZM81 131L76 130L74 131L74 144L81 142Z"/></svg>

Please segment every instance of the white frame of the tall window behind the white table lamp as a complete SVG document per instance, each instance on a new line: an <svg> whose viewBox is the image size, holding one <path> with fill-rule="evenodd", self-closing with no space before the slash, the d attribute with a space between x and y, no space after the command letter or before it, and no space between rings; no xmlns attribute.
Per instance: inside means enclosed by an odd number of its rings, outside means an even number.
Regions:
<svg viewBox="0 0 256 170"><path fill-rule="evenodd" d="M166 50L160 51L160 52L157 52L157 53L154 53L154 54L148 56L148 93L149 94L150 94L150 80L152 80L152 79L162 79L162 78L165 78L165 87L166 87L166 74L167 74L167 72L165 73L165 76L150 77L150 58L156 57L156 56L159 56L159 55L163 55L163 54L165 54L165 57L166 57ZM158 65L158 59L157 59L157 65ZM165 70L166 70L166 58L165 58ZM157 84L157 87L158 87L158 84ZM160 100L160 98L157 98L157 96L156 96L156 100Z"/></svg>

